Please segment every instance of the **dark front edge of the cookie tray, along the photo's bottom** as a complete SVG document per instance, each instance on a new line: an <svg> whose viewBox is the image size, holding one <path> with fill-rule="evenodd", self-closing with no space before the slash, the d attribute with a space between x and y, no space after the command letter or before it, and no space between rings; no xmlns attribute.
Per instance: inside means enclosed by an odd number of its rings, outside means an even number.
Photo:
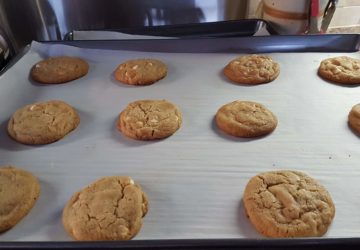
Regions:
<svg viewBox="0 0 360 250"><path fill-rule="evenodd" d="M360 238L184 239L94 242L2 242L1 249L359 249Z"/></svg>

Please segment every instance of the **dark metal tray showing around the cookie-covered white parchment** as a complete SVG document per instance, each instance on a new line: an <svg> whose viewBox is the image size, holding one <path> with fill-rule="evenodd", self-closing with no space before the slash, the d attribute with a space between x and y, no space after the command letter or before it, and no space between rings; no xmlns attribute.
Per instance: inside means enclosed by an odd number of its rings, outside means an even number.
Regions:
<svg viewBox="0 0 360 250"><path fill-rule="evenodd" d="M82 48L184 53L355 52L360 35L311 35L167 40L56 41ZM27 49L29 46L27 47ZM8 68L26 53L12 60ZM360 249L360 238L183 239L117 242L0 242L0 249Z"/></svg>

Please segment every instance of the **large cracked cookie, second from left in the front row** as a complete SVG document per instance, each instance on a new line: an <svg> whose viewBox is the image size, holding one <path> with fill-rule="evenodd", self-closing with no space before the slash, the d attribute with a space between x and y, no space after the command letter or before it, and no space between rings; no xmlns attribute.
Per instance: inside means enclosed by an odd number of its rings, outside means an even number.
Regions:
<svg viewBox="0 0 360 250"><path fill-rule="evenodd" d="M141 229L148 200L127 176L101 178L75 193L62 221L76 240L130 240Z"/></svg>

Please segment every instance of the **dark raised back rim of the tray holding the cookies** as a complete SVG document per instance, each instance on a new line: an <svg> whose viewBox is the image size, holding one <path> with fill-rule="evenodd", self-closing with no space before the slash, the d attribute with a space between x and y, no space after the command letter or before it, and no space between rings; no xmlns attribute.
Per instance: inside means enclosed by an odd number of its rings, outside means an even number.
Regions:
<svg viewBox="0 0 360 250"><path fill-rule="evenodd" d="M360 34L73 40L47 43L82 48L172 53L354 52L360 49Z"/></svg>

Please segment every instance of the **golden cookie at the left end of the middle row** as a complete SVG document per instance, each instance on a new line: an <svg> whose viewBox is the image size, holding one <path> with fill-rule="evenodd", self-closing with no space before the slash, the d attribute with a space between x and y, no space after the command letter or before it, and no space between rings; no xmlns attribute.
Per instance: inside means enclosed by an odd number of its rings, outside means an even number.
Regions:
<svg viewBox="0 0 360 250"><path fill-rule="evenodd" d="M79 123L79 115L69 104L51 100L16 110L9 120L7 130L20 143L48 144L63 138Z"/></svg>

